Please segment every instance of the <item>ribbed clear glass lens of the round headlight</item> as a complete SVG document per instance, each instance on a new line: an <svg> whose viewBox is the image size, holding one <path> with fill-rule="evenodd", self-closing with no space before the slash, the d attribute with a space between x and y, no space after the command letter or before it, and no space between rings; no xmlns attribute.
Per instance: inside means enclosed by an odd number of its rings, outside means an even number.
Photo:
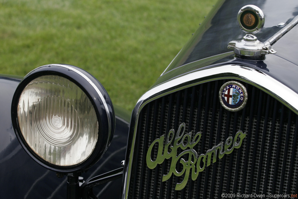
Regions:
<svg viewBox="0 0 298 199"><path fill-rule="evenodd" d="M59 166L86 160L98 138L91 101L76 84L57 75L35 78L25 87L18 103L18 122L28 146Z"/></svg>

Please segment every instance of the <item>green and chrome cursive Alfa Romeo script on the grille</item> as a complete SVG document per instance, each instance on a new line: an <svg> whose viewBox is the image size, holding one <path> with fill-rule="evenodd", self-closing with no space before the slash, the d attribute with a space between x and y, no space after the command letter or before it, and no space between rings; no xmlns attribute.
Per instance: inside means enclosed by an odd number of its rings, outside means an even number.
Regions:
<svg viewBox="0 0 298 199"><path fill-rule="evenodd" d="M154 169L166 160L170 161L168 172L162 176L163 182L169 180L173 175L183 176L181 182L176 182L175 190L184 189L189 178L193 181L197 180L199 173L203 172L206 167L232 153L234 149L239 149L246 136L245 132L238 131L234 137L229 136L224 142L220 142L205 153L200 154L194 147L201 141L202 133L193 131L187 133L185 127L186 124L182 122L177 132L171 129L167 136L162 135L154 140L146 155L146 163L149 169ZM152 157L153 151L155 157ZM177 170L179 166L180 170Z"/></svg>

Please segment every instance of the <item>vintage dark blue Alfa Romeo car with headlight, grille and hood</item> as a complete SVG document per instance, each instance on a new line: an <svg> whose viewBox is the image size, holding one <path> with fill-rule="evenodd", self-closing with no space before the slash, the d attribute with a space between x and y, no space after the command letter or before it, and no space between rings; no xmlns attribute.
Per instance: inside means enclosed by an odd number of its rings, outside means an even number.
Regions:
<svg viewBox="0 0 298 199"><path fill-rule="evenodd" d="M297 197L297 15L219 1L131 118L74 66L1 76L0 198Z"/></svg>

